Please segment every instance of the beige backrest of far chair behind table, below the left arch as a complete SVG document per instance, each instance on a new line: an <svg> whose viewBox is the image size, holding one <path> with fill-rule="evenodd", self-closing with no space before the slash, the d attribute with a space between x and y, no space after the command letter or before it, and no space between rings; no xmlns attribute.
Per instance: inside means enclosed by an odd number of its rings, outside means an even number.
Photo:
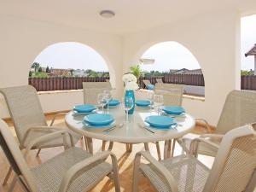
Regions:
<svg viewBox="0 0 256 192"><path fill-rule="evenodd" d="M110 82L83 82L84 104L97 104L97 96L104 90L111 90Z"/></svg>

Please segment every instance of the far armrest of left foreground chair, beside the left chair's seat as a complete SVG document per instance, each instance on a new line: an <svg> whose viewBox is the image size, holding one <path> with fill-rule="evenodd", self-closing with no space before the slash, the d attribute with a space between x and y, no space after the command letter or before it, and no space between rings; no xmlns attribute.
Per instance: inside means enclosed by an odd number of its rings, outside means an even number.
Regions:
<svg viewBox="0 0 256 192"><path fill-rule="evenodd" d="M32 147L34 147L35 145L38 145L40 143L44 143L44 142L48 142L49 140L52 140L56 137L60 137L61 135L63 136L63 144L64 146L67 146L67 141L66 141L66 137L65 137L65 134L68 134L69 137L70 137L70 143L71 145L73 146L73 137L71 135L71 133L65 129L62 129L60 131L55 131L55 132L52 132L52 133L49 133L49 134L46 134L42 137L38 137L38 138L35 138L34 140L32 140L31 143L28 143L27 147L26 147L26 154L28 154L28 152L32 149Z"/></svg>

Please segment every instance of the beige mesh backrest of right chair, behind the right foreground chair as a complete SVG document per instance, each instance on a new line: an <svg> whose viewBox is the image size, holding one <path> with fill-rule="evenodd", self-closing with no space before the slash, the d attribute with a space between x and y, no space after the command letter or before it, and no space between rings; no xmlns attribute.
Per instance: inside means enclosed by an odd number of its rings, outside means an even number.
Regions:
<svg viewBox="0 0 256 192"><path fill-rule="evenodd" d="M232 90L220 114L216 133L256 122L256 91Z"/></svg>

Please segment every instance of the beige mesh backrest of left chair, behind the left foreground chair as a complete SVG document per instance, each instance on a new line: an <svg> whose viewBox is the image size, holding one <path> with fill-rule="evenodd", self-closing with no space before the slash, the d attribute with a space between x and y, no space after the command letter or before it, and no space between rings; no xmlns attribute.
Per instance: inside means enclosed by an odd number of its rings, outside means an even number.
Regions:
<svg viewBox="0 0 256 192"><path fill-rule="evenodd" d="M15 125L19 142L22 143L26 131L32 126L46 126L37 90L31 85L1 88L9 113Z"/></svg>

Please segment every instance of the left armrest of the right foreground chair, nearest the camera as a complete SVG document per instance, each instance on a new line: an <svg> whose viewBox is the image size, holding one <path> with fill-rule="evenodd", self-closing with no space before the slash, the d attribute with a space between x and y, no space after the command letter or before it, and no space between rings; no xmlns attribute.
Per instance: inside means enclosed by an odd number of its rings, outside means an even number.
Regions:
<svg viewBox="0 0 256 192"><path fill-rule="evenodd" d="M134 161L134 175L133 177L137 177L137 172L139 170L140 166L140 160L141 156L148 160L149 163L151 163L152 166L160 173L160 175L163 176L163 178L166 180L166 183L169 186L169 189L171 189L172 192L177 192L177 183L175 179L172 177L171 172L169 172L165 166L161 165L158 160L155 160L151 154L148 153L148 151L141 151L138 152L135 156L135 161Z"/></svg>

